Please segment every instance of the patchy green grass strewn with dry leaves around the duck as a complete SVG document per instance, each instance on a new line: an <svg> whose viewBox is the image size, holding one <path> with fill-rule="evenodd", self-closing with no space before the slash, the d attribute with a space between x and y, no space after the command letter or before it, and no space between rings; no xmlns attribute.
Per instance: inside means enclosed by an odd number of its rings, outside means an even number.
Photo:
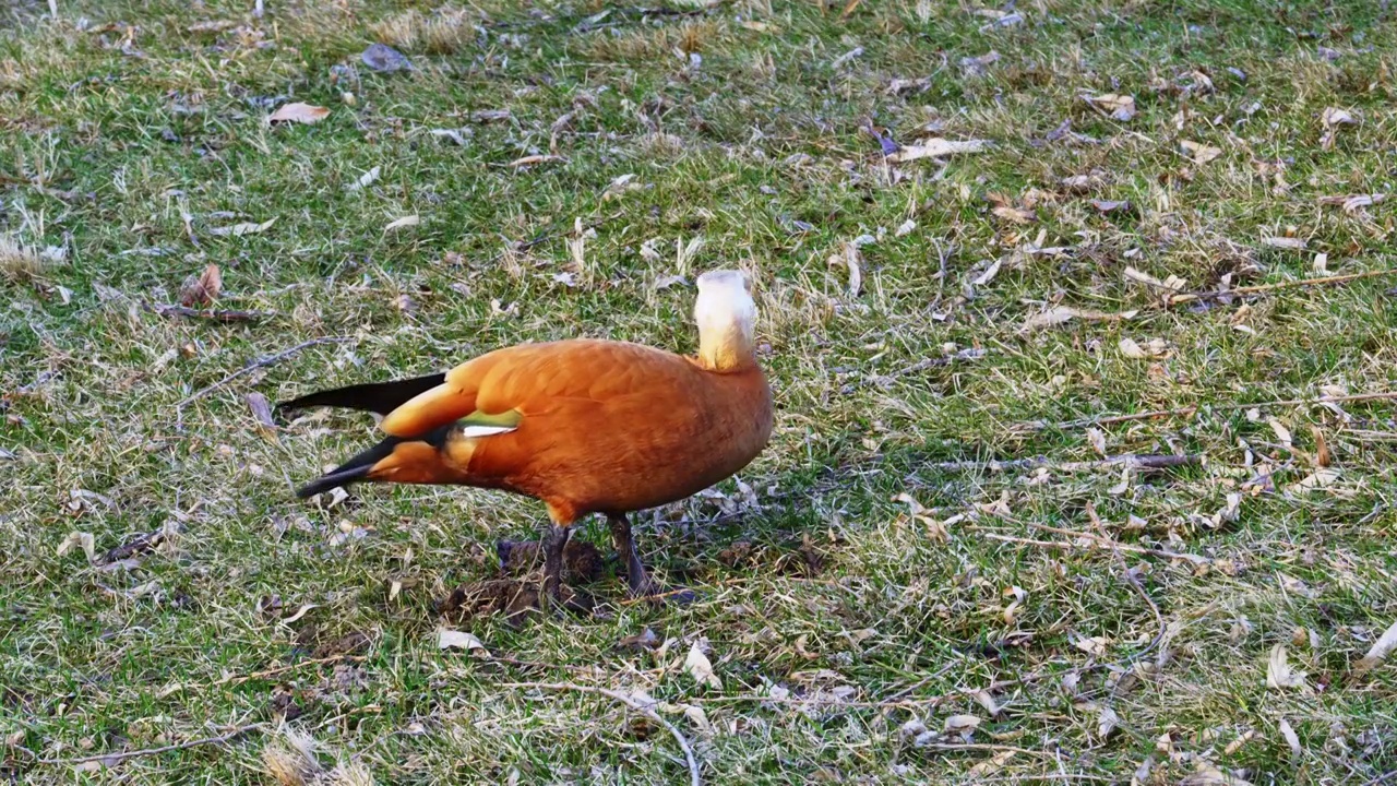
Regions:
<svg viewBox="0 0 1397 786"><path fill-rule="evenodd" d="M1393 667L1351 669L1397 620L1397 413L1221 408L1393 390L1394 281L1168 308L1126 276L1214 291L1390 267L1391 203L1326 201L1393 192L1397 28L1379 4L250 6L0 10L0 775L687 778L652 719L518 687L556 683L654 696L710 783L1397 769ZM414 69L365 67L376 41ZM1081 98L1105 92L1137 115ZM331 112L265 126L286 101ZM1327 108L1356 119L1331 145ZM869 126L989 147L890 165ZM535 155L557 158L513 164ZM144 308L210 263L217 308L272 316ZM588 617L439 621L539 505L440 488L300 503L293 484L372 424L265 429L244 400L525 340L687 351L692 281L717 266L756 281L780 411L740 483L641 516L657 578L701 593L689 606L622 603L608 569ZM1134 313L1024 330L1055 306ZM344 341L201 393L321 337ZM1098 448L1203 462L1063 467ZM940 466L1030 456L1049 464ZM138 533L162 537L101 559ZM599 522L583 534L606 541ZM439 624L489 657L439 650ZM617 649L647 628L654 646ZM696 643L721 687L686 671ZM1302 687L1267 685L1277 646ZM970 744L942 736L967 715Z"/></svg>

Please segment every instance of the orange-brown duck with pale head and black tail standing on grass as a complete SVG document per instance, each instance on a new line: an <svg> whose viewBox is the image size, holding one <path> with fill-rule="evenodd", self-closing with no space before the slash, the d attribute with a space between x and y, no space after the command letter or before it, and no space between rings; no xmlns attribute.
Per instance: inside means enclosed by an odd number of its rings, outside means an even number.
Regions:
<svg viewBox="0 0 1397 786"><path fill-rule="evenodd" d="M654 597L630 516L686 499L768 445L771 386L757 362L757 308L740 270L696 280L693 355L567 338L493 350L426 376L309 393L279 411L380 415L383 439L296 491L356 483L497 490L543 503L543 593L562 604L574 524L605 516L633 597Z"/></svg>

